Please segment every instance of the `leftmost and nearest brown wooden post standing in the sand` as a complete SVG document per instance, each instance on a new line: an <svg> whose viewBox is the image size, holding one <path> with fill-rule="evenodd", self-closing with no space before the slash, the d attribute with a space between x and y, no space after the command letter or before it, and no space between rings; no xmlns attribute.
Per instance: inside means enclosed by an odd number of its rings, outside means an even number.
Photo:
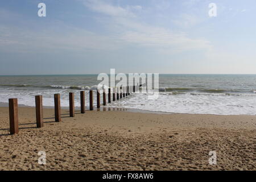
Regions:
<svg viewBox="0 0 256 182"><path fill-rule="evenodd" d="M19 133L18 125L18 99L9 98L10 134Z"/></svg>

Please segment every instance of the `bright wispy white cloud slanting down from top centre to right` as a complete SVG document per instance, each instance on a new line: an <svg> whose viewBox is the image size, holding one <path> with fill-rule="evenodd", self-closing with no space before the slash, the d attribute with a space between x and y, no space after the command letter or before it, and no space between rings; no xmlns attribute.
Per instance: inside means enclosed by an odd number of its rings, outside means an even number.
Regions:
<svg viewBox="0 0 256 182"><path fill-rule="evenodd" d="M84 1L84 5L97 13L110 15L108 27L118 27L117 38L125 43L132 43L134 46L152 47L166 52L188 51L195 49L208 49L210 42L205 39L189 38L184 32L174 32L164 27L153 26L143 23L137 18L136 13L129 7L106 4L102 1ZM135 6L139 7L139 6ZM187 23L196 23L196 19L187 17Z"/></svg>

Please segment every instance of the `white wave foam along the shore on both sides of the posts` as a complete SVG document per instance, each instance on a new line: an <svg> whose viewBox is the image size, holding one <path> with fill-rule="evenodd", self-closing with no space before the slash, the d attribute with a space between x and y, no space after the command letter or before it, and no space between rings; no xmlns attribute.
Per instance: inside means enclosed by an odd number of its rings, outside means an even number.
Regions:
<svg viewBox="0 0 256 182"><path fill-rule="evenodd" d="M97 88L97 85L90 89ZM69 106L69 92L75 93L75 106L80 106L80 90L70 89L41 89L20 90L0 88L0 102L8 102L8 98L18 98L18 103L35 106L35 96L43 95L44 106L54 106L53 95L60 93L61 106ZM96 90L94 105L96 105ZM89 90L85 89L86 106L89 106ZM102 102L102 95L101 95ZM225 94L225 93L182 93L160 92L157 100L148 100L146 94L131 94L130 97L108 104L109 107L163 111L170 113L191 114L256 114L255 93Z"/></svg>

